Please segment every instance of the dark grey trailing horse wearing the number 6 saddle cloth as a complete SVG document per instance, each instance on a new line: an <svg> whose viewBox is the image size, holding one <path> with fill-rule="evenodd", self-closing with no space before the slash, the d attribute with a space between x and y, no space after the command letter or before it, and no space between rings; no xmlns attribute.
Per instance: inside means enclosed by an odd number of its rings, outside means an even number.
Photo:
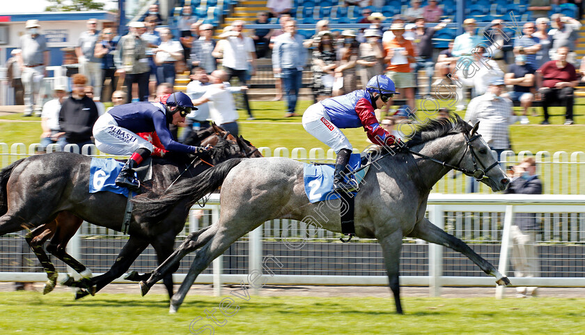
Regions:
<svg viewBox="0 0 585 335"><path fill-rule="evenodd" d="M141 187L139 192L146 192L150 196L164 194L166 188L182 172L182 178L189 179L209 169L213 164L219 164L227 159L261 156L256 148L241 138L235 139L229 135L228 139L223 139L221 136L217 139L218 134L214 133L214 130L204 133L208 136L205 139L214 138L212 142L214 147L210 151L201 154L196 159L188 155L176 157L172 161L154 159L153 180L146 182L145 187ZM208 142L201 141L201 143ZM51 236L49 234L54 233L54 237L47 250L52 251L52 254L65 263L72 265L84 276L81 281L70 283L70 285L89 288L90 293L95 293L122 275L148 247L148 244L153 246L159 263L162 263L173 251L176 235L185 227L190 208L190 205L185 206L187 201L178 201L173 205L173 210L158 221L133 215L128 229L130 238L120 251L114 265L105 274L91 279L86 278L91 276L91 272L85 271L84 265L80 265L77 260L65 253L68 238L63 238L63 235L70 238L79 225L67 226L65 223L79 218L114 231L121 231L126 207L126 198L120 194L111 192L90 194L88 192L90 162L91 157L84 155L52 153L21 159L0 171L0 235L20 231L23 228L36 228L31 233L40 230L38 233L40 242L31 244L31 247L49 276L45 293L52 290L57 277L54 266L42 251L42 243L45 242L46 236ZM56 227L52 226L51 224L58 216L63 217L63 220ZM58 229L51 231L53 228ZM63 234L65 230L69 233ZM29 240L28 237L27 240ZM169 296L172 296L173 282L170 275L165 276L164 283L169 290ZM78 294L78 297L86 294L87 291L83 291Z"/></svg>

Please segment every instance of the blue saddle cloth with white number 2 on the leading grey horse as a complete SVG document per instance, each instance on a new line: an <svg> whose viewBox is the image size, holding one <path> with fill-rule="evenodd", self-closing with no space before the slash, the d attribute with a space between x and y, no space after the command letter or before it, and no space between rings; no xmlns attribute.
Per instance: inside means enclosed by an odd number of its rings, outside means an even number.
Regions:
<svg viewBox="0 0 585 335"><path fill-rule="evenodd" d="M361 166L361 157L359 154L352 154L348 164L352 171L359 169ZM340 198L337 192L333 192L333 174L335 168L333 165L322 164L304 164L303 180L306 196L311 203L318 201L331 200ZM367 169L355 173L355 179L358 184L366 176Z"/></svg>

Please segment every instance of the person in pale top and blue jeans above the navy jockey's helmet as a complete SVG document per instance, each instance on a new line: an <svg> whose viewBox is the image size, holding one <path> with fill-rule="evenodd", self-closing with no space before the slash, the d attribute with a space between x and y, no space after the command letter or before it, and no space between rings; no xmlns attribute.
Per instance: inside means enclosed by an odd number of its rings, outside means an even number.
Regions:
<svg viewBox="0 0 585 335"><path fill-rule="evenodd" d="M157 74L160 81L175 86L176 63L182 61L182 46L180 42L173 40L171 29L162 29L160 39L162 42L155 49Z"/></svg>

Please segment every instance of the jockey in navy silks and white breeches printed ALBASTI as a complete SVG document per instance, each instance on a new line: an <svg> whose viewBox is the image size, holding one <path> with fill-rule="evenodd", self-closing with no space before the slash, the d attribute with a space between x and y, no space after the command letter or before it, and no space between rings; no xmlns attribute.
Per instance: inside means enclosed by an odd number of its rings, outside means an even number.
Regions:
<svg viewBox="0 0 585 335"><path fill-rule="evenodd" d="M153 143L139 137L137 132L156 131L164 149L178 153L201 153L207 148L186 146L173 139L169 124L185 122L191 113L191 99L185 93L172 93L166 102L134 102L116 106L103 114L93 125L95 146L112 155L131 155L116 178L116 185L138 189L134 169L153 152Z"/></svg>

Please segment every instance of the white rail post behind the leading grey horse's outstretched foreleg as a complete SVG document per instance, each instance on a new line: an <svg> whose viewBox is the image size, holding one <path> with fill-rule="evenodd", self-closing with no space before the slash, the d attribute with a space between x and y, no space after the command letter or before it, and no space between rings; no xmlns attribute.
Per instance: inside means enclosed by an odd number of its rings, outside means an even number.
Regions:
<svg viewBox="0 0 585 335"><path fill-rule="evenodd" d="M442 205L428 206L428 217L432 224L444 229ZM428 287L431 297L441 296L441 276L443 275L443 247L439 244L428 244Z"/></svg>

